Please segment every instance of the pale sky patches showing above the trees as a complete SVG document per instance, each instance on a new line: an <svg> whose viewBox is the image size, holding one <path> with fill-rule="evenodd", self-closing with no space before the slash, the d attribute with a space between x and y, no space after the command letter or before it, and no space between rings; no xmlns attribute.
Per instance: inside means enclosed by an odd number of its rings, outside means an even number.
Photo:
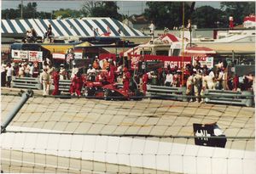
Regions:
<svg viewBox="0 0 256 174"><path fill-rule="evenodd" d="M21 0L2 0L2 9L4 8L17 8ZM38 11L50 12L59 8L72 8L80 9L85 1L30 1L23 0L24 4L29 2L38 3ZM202 5L211 5L213 8L219 8L219 2L196 2L195 7ZM142 10L146 8L146 1L118 1L120 14L142 14Z"/></svg>

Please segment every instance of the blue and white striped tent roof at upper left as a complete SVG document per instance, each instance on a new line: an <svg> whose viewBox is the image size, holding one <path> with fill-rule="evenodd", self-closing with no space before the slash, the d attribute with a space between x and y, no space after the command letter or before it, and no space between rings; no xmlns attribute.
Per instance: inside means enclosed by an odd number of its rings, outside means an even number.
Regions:
<svg viewBox="0 0 256 174"><path fill-rule="evenodd" d="M1 33L26 33L33 28L38 36L44 36L48 25L54 36L144 36L141 31L111 18L84 18L67 20L1 20Z"/></svg>

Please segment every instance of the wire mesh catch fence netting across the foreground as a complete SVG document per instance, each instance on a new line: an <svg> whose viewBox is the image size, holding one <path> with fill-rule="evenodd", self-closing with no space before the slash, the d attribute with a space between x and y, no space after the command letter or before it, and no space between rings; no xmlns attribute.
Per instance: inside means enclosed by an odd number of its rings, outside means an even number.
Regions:
<svg viewBox="0 0 256 174"><path fill-rule="evenodd" d="M2 93L2 121L19 100ZM1 134L1 170L254 173L254 114L253 107L224 104L34 95ZM195 123L217 124L225 147L195 145ZM202 134L197 139L211 138Z"/></svg>

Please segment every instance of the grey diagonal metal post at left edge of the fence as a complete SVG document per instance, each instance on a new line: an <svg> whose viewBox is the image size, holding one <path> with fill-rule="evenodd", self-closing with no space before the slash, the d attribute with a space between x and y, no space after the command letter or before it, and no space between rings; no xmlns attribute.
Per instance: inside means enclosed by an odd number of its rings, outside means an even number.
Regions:
<svg viewBox="0 0 256 174"><path fill-rule="evenodd" d="M19 110L22 108L22 106L26 103L28 98L32 97L33 91L31 89L28 89L26 92L21 91L21 99L18 104L15 105L15 109L12 109L9 112L9 115L7 115L6 121L3 121L3 124L1 125L1 133L5 132L6 127L9 126L9 123L15 118L15 115L19 112Z"/></svg>

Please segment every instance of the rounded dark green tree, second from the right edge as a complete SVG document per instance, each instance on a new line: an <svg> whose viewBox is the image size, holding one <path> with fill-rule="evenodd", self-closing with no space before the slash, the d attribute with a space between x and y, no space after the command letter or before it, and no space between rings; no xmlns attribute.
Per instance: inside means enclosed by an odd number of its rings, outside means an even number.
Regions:
<svg viewBox="0 0 256 174"><path fill-rule="evenodd" d="M211 6L196 8L192 14L192 25L197 25L198 28L225 27L225 20L224 12Z"/></svg>

